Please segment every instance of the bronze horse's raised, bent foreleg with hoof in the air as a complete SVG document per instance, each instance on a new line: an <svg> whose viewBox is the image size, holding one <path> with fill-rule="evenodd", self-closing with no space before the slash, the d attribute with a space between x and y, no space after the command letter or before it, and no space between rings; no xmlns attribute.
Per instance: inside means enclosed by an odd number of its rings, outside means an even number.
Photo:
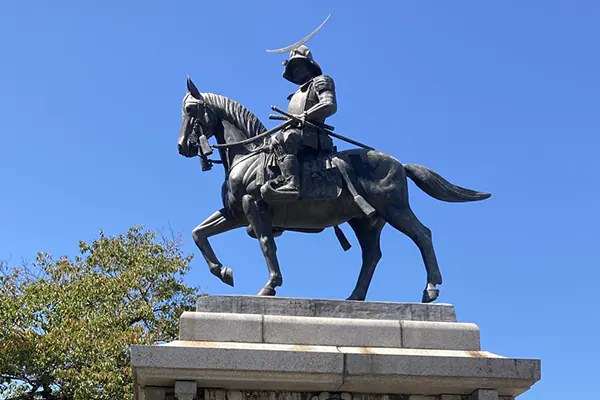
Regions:
<svg viewBox="0 0 600 400"><path fill-rule="evenodd" d="M204 222L198 225L192 231L192 237L196 246L200 249L200 252L204 256L210 272L217 276L224 283L233 286L233 272L231 268L223 268L223 264L219 261L215 252L213 251L208 238L214 235L218 235L223 232L230 231L235 228L242 226L239 221L227 218L224 209L215 212L213 215L208 217Z"/></svg>

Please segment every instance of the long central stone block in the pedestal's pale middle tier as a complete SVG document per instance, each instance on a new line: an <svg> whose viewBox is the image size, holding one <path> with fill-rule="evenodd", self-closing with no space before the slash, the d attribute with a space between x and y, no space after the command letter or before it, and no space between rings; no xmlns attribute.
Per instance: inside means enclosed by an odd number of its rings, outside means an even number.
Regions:
<svg viewBox="0 0 600 400"><path fill-rule="evenodd" d="M265 343L401 347L400 322L265 315Z"/></svg>

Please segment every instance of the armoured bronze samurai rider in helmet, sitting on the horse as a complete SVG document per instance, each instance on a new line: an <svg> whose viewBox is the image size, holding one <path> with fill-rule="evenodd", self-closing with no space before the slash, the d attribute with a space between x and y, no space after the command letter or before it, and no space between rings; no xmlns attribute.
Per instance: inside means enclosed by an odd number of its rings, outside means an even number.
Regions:
<svg viewBox="0 0 600 400"><path fill-rule="evenodd" d="M288 97L288 112L303 121L322 124L337 111L335 84L323 71L308 47L301 45L290 52L284 62L283 77L299 85L298 90ZM291 126L274 137L274 150L281 169L283 186L278 192L299 193L299 158L316 157L333 151L331 138L314 127Z"/></svg>

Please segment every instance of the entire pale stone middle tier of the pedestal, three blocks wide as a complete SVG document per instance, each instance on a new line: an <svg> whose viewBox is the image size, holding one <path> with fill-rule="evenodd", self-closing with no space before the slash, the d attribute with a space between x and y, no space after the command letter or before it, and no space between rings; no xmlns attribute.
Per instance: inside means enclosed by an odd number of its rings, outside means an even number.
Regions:
<svg viewBox="0 0 600 400"><path fill-rule="evenodd" d="M457 322L185 312L181 340L479 350L479 328Z"/></svg>

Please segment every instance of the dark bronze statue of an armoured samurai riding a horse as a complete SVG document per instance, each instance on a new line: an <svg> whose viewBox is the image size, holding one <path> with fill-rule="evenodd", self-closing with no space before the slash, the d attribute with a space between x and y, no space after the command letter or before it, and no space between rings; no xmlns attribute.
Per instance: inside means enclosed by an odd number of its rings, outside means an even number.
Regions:
<svg viewBox="0 0 600 400"><path fill-rule="evenodd" d="M453 185L426 167L402 164L352 140L367 148L336 151L329 136L346 138L325 124L337 108L335 85L304 46L323 25L282 49L290 51L284 77L299 89L289 97L288 112L282 111L285 122L274 129L267 131L254 114L233 100L200 93L188 78L179 153L199 156L203 170L209 170L213 162L220 163L226 176L221 190L223 208L193 230L194 242L211 273L233 286L232 270L223 267L208 238L246 227L258 239L269 269L269 280L258 294L273 296L283 283L274 237L286 230L317 233L334 227L347 249L349 245L337 229L347 222L362 249L361 271L348 300L364 300L381 259L381 231L389 223L419 247L427 270L422 301L434 301L442 276L431 231L410 209L407 177L442 201L478 201L490 194ZM277 134L271 136L273 133ZM210 146L212 137L217 144ZM208 159L213 149L218 150L219 160Z"/></svg>

